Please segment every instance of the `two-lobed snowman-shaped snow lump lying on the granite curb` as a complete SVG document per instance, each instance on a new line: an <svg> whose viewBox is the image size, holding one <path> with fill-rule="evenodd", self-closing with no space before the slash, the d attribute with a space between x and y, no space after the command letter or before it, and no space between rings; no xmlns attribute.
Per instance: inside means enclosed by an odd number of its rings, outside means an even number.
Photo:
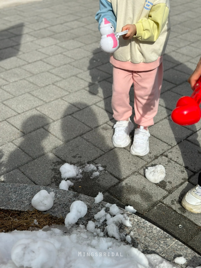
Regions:
<svg viewBox="0 0 201 268"><path fill-rule="evenodd" d="M70 212L65 217L65 226L67 227L76 223L78 219L84 217L86 213L86 204L81 200L74 201L70 206Z"/></svg>

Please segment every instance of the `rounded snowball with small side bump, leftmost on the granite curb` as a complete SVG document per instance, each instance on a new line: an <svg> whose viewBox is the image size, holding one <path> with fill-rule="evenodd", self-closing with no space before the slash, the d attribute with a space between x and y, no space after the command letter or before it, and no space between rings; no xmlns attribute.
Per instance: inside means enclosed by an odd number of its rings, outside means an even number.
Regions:
<svg viewBox="0 0 201 268"><path fill-rule="evenodd" d="M46 190L40 190L32 198L31 204L37 210L49 210L54 204L54 196L55 194L53 192L49 194Z"/></svg>

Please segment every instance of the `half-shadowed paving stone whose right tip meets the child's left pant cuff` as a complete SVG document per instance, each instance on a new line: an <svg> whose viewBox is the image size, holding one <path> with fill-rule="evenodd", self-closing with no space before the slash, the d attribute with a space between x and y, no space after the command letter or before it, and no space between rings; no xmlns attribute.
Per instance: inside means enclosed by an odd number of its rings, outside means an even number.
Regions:
<svg viewBox="0 0 201 268"><path fill-rule="evenodd" d="M73 117L80 120L82 123L86 124L90 128L96 128L98 126L101 126L102 124L105 124L113 118L111 113L104 111L96 105L86 107L81 111L74 113Z"/></svg>

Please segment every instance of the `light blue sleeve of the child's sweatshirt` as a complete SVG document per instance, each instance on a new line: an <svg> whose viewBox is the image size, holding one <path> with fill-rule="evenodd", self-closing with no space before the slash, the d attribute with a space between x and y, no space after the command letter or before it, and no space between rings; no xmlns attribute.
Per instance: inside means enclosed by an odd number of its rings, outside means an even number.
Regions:
<svg viewBox="0 0 201 268"><path fill-rule="evenodd" d="M109 22L111 22L111 24L116 30L117 19L113 12L112 4L107 0L99 0L99 7L100 9L98 10L95 16L95 19L99 23L98 29L100 30L100 23L102 22L103 18L106 18Z"/></svg>

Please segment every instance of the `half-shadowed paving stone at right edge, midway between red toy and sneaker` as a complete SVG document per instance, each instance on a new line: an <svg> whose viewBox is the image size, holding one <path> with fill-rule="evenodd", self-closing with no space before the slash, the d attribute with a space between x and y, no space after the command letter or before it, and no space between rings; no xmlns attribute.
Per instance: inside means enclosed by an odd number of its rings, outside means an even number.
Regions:
<svg viewBox="0 0 201 268"><path fill-rule="evenodd" d="M198 170L200 170L200 151L199 146L187 140L183 140L177 146L170 149L166 153L166 156L193 172L198 172Z"/></svg>

